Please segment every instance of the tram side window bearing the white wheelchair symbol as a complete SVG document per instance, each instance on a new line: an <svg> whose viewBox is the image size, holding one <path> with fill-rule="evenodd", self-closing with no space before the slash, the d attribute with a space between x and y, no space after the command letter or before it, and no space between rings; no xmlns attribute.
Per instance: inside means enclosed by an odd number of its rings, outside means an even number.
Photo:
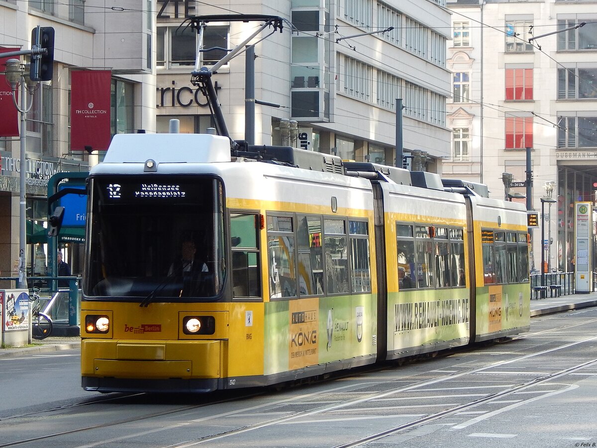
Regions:
<svg viewBox="0 0 597 448"><path fill-rule="evenodd" d="M272 299L296 297L294 234L291 216L267 216L267 260Z"/></svg>

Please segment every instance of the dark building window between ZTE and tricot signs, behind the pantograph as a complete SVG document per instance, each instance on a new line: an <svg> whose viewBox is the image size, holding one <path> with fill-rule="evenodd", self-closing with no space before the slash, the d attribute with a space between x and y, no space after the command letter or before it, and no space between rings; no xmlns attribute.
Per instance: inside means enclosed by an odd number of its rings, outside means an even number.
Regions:
<svg viewBox="0 0 597 448"><path fill-rule="evenodd" d="M195 65L198 34L195 30L177 26L158 26L157 33L157 61L159 68L171 69ZM228 27L208 26L203 36L203 48L228 48ZM224 56L226 51L221 49L200 53L200 65L214 65Z"/></svg>

